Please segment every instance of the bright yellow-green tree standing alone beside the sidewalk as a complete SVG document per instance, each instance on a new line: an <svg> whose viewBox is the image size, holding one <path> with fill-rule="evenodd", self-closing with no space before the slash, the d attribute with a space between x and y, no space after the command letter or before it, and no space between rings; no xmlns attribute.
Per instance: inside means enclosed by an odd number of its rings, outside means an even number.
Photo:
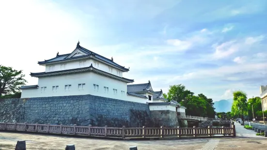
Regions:
<svg viewBox="0 0 267 150"><path fill-rule="evenodd" d="M232 105L232 114L236 116L241 116L244 122L244 115L247 115L248 105L247 105L247 94L241 90L233 92L234 102Z"/></svg>

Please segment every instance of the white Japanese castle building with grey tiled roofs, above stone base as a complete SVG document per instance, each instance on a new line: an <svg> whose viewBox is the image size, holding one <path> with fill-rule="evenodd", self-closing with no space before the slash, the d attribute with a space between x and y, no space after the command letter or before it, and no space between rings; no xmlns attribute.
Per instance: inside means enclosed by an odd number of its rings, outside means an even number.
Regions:
<svg viewBox="0 0 267 150"><path fill-rule="evenodd" d="M179 108L185 112L186 109L178 103L167 103L162 90L153 91L150 81L127 85L134 82L133 79L123 77L123 73L128 72L129 68L115 63L113 58L98 55L79 43L73 52L57 54L55 58L38 61L38 64L46 67L45 72L30 74L38 77L38 84L22 86L21 98L91 94L144 104L164 103L164 108L158 108L161 110L176 109L177 112Z"/></svg>

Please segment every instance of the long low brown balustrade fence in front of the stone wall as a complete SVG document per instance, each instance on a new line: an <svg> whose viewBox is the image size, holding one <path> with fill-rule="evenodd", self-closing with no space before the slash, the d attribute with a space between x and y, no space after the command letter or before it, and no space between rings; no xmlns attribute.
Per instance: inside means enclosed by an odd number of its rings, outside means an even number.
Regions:
<svg viewBox="0 0 267 150"><path fill-rule="evenodd" d="M33 133L51 133L62 135L86 135L86 136L104 136L120 138L148 138L148 137L182 137L182 136L236 136L235 125L231 128L114 128L114 127L93 127L89 126L68 126L68 125L51 125L51 124L30 124L30 123L0 123L0 130L4 131L21 131Z"/></svg>

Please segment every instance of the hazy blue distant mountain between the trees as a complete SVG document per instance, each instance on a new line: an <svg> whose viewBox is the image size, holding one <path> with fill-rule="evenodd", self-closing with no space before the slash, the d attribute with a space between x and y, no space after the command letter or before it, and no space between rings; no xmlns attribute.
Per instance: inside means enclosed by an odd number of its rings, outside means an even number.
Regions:
<svg viewBox="0 0 267 150"><path fill-rule="evenodd" d="M228 112L231 111L231 107L233 104L233 99L228 100L220 100L214 102L214 108L216 112Z"/></svg>

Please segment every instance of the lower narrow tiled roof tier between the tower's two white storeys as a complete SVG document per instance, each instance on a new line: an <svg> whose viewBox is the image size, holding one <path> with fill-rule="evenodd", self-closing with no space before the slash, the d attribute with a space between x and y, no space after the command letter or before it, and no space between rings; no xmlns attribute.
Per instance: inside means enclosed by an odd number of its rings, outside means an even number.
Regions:
<svg viewBox="0 0 267 150"><path fill-rule="evenodd" d="M93 67L92 63L91 63L91 66L89 66L89 67L67 69L67 70L60 70L60 71L53 71L53 72L31 73L30 75L33 77L41 77L41 76L51 76L51 75L73 74L73 73L77 73L77 72L88 72L88 71L92 71L92 72L95 72L95 73L100 74L100 75L106 75L106 76L109 76L111 78L115 78L115 79L124 81L126 83L134 82L134 80L132 80L132 79L127 79L125 77L120 77L120 76L113 75L113 74L104 72L102 70L96 69Z"/></svg>

